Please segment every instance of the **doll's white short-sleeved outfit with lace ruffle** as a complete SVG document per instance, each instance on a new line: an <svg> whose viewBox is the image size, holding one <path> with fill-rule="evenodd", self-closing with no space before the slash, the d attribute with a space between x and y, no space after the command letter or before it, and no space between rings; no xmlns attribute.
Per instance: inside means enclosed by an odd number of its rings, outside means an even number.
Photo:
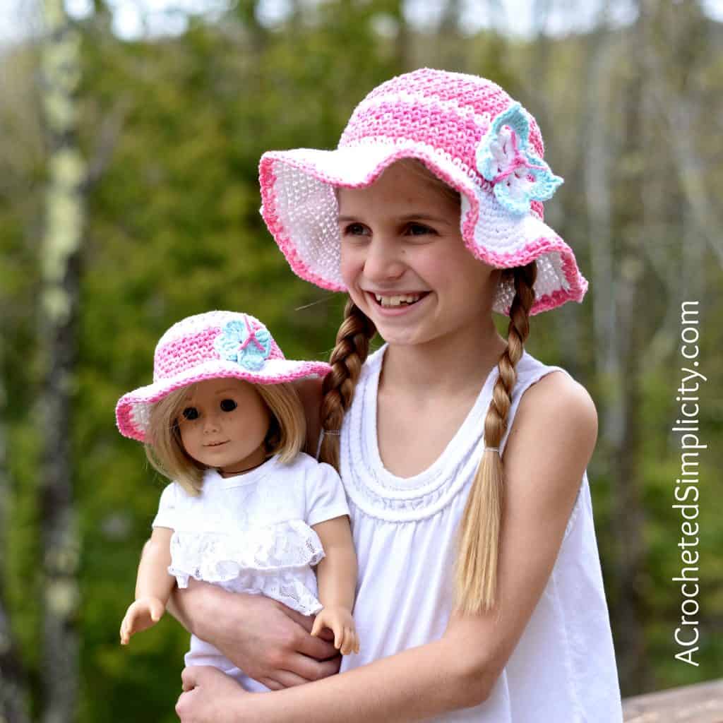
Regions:
<svg viewBox="0 0 723 723"><path fill-rule="evenodd" d="M322 605L312 566L324 550L312 526L348 513L335 469L299 454L291 463L273 457L226 479L208 470L198 497L171 482L153 527L174 531L168 572L179 587L187 587L193 577L232 592L264 594L313 615ZM196 636L191 636L185 663L213 665L247 690L268 690Z"/></svg>

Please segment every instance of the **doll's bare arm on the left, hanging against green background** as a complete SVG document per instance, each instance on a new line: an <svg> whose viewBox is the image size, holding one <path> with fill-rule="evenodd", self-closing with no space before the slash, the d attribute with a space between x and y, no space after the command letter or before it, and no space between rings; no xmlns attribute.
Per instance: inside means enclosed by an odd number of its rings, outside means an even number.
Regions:
<svg viewBox="0 0 723 723"><path fill-rule="evenodd" d="M176 578L168 574L171 564L171 536L167 527L155 527L143 548L138 565L135 602L121 623L121 644L127 645L134 633L150 628L163 617Z"/></svg>

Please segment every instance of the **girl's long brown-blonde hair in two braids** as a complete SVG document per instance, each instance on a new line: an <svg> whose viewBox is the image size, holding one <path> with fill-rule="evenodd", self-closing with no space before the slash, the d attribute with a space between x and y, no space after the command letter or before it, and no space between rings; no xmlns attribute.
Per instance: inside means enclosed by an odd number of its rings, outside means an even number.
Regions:
<svg viewBox="0 0 723 723"><path fill-rule="evenodd" d="M440 192L448 197L454 195L459 202L458 192L428 171L422 163L401 163L427 176L429 181L439 187ZM512 281L515 296L510 306L507 348L497 361L500 376L492 389L492 401L484 418L485 448L499 448L507 431L512 391L517 381L515 367L529 335L529 310L535 298L533 287L536 274L534 261L523 267L502 271L500 283ZM348 299L344 320L336 336L336 346L331 353L332 371L325 377L322 386L321 422L325 432L338 432L341 429L344 413L354 398L354 387L359 380L361 366L369 354L369 342L375 333L372 321ZM324 435L320 459L339 469L338 434ZM454 597L455 608L463 614L487 612L495 606L504 482L500 455L486 449L474 475L457 532Z"/></svg>

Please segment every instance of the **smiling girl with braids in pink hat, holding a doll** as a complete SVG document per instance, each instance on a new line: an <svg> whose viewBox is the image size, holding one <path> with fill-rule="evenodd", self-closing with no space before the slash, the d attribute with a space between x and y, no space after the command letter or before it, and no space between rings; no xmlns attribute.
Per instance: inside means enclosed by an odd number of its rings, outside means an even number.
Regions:
<svg viewBox="0 0 723 723"><path fill-rule="evenodd" d="M524 348L531 315L587 287L542 221L562 182L542 156L500 87L421 69L372 90L336 150L262 157L262 213L291 268L350 297L321 458L348 496L364 651L268 696L188 667L182 722L622 720L586 475L595 408ZM176 596L231 656L278 640L271 607L264 635L258 605L225 602ZM232 631L244 611L253 645ZM294 640L295 657L267 656L277 688L301 682L273 672L286 660L302 680L328 674L312 654L301 665L304 630Z"/></svg>

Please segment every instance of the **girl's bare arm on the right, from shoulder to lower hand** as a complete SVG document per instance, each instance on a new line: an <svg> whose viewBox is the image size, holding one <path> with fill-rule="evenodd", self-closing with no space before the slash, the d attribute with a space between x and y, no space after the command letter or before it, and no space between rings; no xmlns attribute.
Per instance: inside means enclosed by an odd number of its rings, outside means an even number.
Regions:
<svg viewBox="0 0 723 723"><path fill-rule="evenodd" d="M454 616L433 643L279 693L246 693L213 670L187 668L181 723L401 723L482 703L547 585L596 435L594 405L566 375L524 393L505 448L495 609Z"/></svg>

